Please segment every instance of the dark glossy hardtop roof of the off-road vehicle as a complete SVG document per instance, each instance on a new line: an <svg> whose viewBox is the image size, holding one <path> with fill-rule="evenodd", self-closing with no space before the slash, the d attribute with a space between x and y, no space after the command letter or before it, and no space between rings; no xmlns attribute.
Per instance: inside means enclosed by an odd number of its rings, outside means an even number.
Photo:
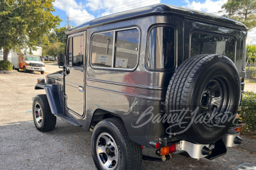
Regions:
<svg viewBox="0 0 256 170"><path fill-rule="evenodd" d="M247 31L246 26L241 22L237 22L235 20L231 20L225 17L220 17L218 15L212 15L210 13L172 6L168 4L154 4L154 5L146 6L143 8L136 8L134 10L114 13L104 17L95 18L94 20L85 22L84 24L77 25L76 27L72 27L66 32L66 34L72 34L74 32L83 31L84 29L87 29L89 27L111 24L113 22L120 22L123 20L131 20L132 18L140 18L140 17L151 16L151 15L170 15L170 14Z"/></svg>

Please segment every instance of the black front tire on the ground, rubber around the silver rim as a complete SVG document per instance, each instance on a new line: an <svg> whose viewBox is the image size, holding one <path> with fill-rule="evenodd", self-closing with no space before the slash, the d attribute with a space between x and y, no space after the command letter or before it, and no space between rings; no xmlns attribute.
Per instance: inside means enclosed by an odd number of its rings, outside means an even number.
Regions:
<svg viewBox="0 0 256 170"><path fill-rule="evenodd" d="M40 125L36 123L36 115L35 115L35 104L40 105L40 109L42 110L42 122ZM45 94L37 95L33 100L33 120L36 126L36 129L41 132L49 132L52 131L56 125L56 117L52 115L51 108L48 103L47 96Z"/></svg>

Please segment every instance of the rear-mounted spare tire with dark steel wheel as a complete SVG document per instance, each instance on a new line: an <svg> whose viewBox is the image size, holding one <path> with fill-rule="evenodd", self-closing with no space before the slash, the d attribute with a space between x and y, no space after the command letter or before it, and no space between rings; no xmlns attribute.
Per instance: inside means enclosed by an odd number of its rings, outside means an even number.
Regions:
<svg viewBox="0 0 256 170"><path fill-rule="evenodd" d="M177 68L166 92L166 113L179 115L170 132L193 143L214 143L232 125L240 99L232 60L224 55L191 57Z"/></svg>

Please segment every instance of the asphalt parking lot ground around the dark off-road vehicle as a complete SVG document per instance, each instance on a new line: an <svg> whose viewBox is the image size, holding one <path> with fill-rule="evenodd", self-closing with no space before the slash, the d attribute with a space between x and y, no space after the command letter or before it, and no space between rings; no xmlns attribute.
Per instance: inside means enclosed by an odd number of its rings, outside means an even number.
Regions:
<svg viewBox="0 0 256 170"><path fill-rule="evenodd" d="M46 65L45 74L58 71ZM38 73L0 74L0 169L96 169L90 151L92 132L58 119L54 131L36 130L31 113ZM253 89L253 88L252 88ZM143 149L156 157L155 150ZM214 160L173 155L166 162L143 161L141 169L234 169L244 162L256 166L256 141L244 138L236 148ZM255 168L255 167L254 167Z"/></svg>

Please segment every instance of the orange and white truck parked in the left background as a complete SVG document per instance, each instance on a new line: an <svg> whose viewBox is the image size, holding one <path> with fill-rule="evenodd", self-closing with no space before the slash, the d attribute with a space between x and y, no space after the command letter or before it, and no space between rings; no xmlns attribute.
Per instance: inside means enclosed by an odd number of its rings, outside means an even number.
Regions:
<svg viewBox="0 0 256 170"><path fill-rule="evenodd" d="M39 57L33 55L24 55L24 59L19 62L19 68L24 70L24 73L28 71L40 71L44 74L45 64L41 62Z"/></svg>

